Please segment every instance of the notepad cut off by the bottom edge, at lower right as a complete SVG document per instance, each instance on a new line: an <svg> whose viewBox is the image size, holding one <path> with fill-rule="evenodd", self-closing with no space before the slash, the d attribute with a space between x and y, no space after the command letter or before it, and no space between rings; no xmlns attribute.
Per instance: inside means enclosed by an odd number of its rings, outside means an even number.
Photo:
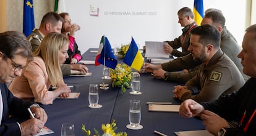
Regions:
<svg viewBox="0 0 256 136"><path fill-rule="evenodd" d="M179 131L174 132L174 134L182 134L183 136L213 136L213 134L210 134L207 130Z"/></svg>

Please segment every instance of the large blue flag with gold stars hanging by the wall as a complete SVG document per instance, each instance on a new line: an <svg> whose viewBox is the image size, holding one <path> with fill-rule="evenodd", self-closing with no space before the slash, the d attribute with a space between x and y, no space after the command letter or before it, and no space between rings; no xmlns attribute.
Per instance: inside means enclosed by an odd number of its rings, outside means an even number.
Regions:
<svg viewBox="0 0 256 136"><path fill-rule="evenodd" d="M23 7L23 33L29 36L35 28L35 19L33 11L33 0L24 0Z"/></svg>

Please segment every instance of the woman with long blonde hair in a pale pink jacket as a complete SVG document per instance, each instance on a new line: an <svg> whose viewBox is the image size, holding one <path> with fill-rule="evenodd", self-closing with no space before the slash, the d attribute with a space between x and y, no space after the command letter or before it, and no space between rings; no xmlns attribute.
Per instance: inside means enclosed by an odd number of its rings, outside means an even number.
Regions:
<svg viewBox="0 0 256 136"><path fill-rule="evenodd" d="M69 39L63 34L49 33L43 38L38 49L33 52L33 61L28 62L9 86L15 97L35 98L35 102L52 104L57 97L69 97L70 89L64 83L61 65L69 57ZM50 87L56 87L49 91Z"/></svg>

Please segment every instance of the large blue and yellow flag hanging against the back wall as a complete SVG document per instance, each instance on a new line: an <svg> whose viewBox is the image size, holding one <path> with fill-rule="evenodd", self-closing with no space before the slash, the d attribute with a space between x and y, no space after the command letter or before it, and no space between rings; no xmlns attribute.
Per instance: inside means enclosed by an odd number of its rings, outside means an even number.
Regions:
<svg viewBox="0 0 256 136"><path fill-rule="evenodd" d="M195 22L200 25L203 20L203 0L194 0L193 13Z"/></svg>

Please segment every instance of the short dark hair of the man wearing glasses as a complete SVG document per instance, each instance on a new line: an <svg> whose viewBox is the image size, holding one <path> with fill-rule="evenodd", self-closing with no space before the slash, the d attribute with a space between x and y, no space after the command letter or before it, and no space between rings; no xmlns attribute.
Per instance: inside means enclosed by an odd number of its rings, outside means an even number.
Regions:
<svg viewBox="0 0 256 136"><path fill-rule="evenodd" d="M0 51L4 58L14 58L14 55L32 60L32 46L26 36L19 31L0 33Z"/></svg>

